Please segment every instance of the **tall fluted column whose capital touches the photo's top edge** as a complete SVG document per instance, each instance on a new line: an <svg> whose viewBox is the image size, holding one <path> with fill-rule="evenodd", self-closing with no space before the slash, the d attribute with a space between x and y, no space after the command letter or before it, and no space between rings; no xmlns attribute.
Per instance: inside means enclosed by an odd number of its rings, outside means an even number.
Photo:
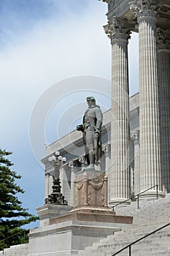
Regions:
<svg viewBox="0 0 170 256"><path fill-rule="evenodd" d="M158 107L156 7L158 1L136 1L131 10L139 23L139 128L141 191L158 184L161 193L161 155ZM156 188L142 194L155 197Z"/></svg>

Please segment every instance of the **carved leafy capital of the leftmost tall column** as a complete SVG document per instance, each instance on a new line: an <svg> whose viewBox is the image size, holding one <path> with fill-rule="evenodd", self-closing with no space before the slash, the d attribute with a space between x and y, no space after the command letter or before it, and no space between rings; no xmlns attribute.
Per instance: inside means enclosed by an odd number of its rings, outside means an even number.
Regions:
<svg viewBox="0 0 170 256"><path fill-rule="evenodd" d="M122 40L128 43L132 26L134 25L129 23L127 19L120 19L114 16L112 20L108 20L107 25L104 26L104 31L111 39L112 45Z"/></svg>

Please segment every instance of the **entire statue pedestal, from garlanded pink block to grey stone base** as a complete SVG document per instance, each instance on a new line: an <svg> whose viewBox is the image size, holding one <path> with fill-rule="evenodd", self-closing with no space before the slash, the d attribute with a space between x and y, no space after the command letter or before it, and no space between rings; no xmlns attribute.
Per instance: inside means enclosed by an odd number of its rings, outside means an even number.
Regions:
<svg viewBox="0 0 170 256"><path fill-rule="evenodd" d="M107 176L98 170L76 174L73 208L51 203L36 210L40 227L29 233L28 256L77 255L133 220L107 207Z"/></svg>

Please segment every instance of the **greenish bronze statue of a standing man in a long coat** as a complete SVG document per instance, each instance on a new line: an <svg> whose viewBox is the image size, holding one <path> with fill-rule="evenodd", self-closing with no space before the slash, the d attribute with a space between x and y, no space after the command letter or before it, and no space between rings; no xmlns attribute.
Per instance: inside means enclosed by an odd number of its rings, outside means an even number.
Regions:
<svg viewBox="0 0 170 256"><path fill-rule="evenodd" d="M85 157L88 162L88 169L94 169L94 163L98 164L101 158L101 108L96 105L94 97L87 97L88 109L85 111L81 125L77 125L77 131L83 133L85 145Z"/></svg>

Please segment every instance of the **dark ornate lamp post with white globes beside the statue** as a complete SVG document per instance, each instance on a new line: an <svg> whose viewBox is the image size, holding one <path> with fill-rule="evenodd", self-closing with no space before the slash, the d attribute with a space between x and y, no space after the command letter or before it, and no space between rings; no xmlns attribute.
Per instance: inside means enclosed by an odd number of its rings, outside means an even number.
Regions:
<svg viewBox="0 0 170 256"><path fill-rule="evenodd" d="M45 198L45 204L53 203L58 205L68 205L61 193L60 167L66 162L66 157L60 156L60 152L56 151L53 157L49 157L48 161L54 167L53 171L53 192Z"/></svg>

